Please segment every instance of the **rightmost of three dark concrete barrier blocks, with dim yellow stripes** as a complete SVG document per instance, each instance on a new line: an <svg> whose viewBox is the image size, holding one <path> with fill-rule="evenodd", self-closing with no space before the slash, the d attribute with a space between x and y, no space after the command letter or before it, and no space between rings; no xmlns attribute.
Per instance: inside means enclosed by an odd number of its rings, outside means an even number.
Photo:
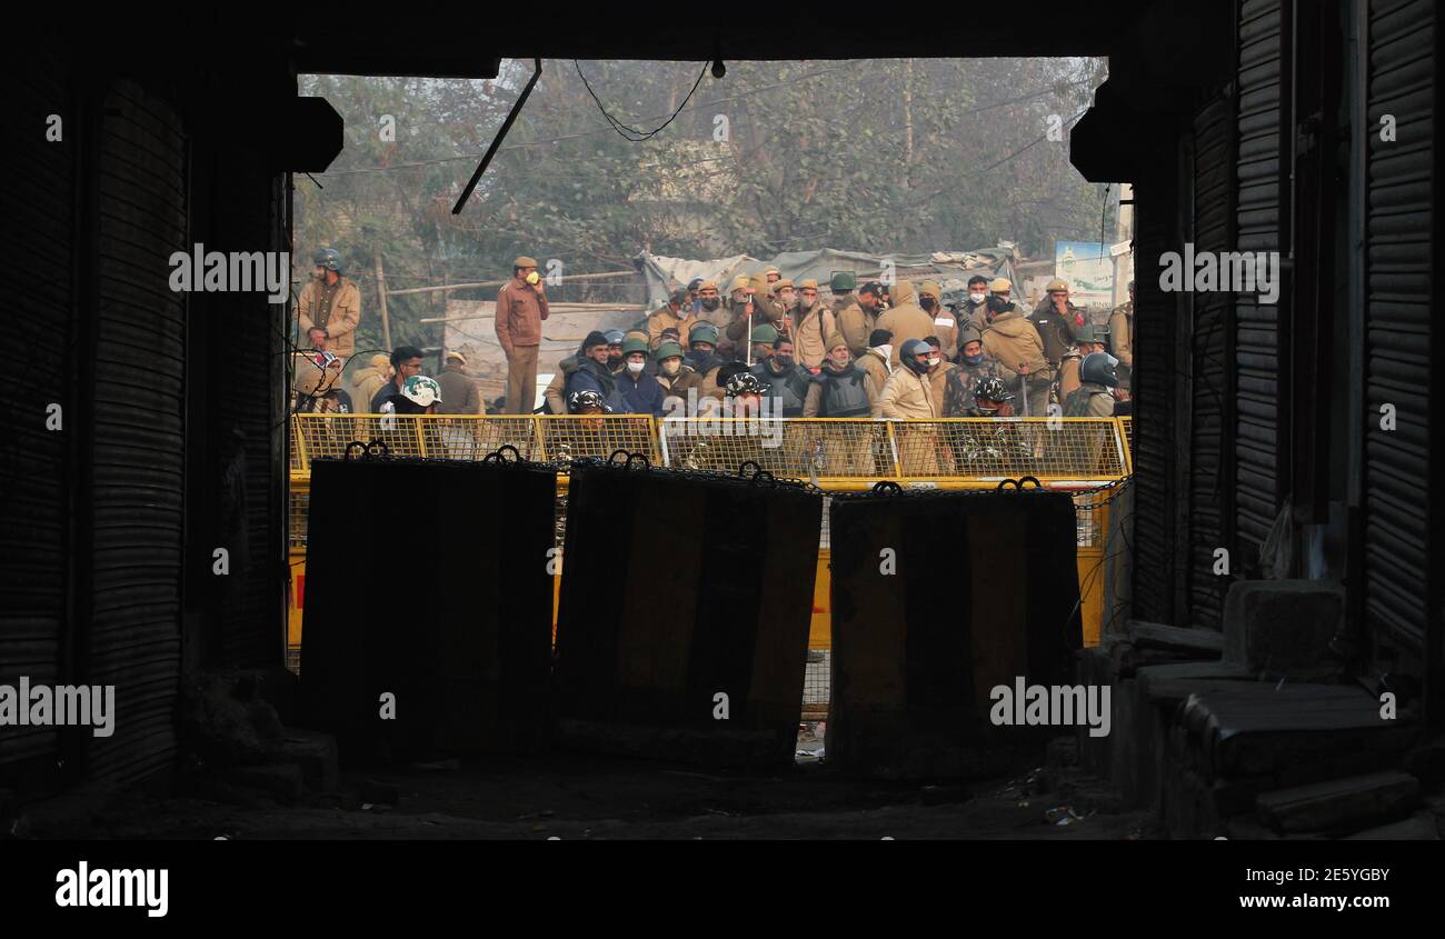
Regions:
<svg viewBox="0 0 1445 939"><path fill-rule="evenodd" d="M993 725L991 691L1069 680L1081 647L1069 496L880 490L835 496L829 524L829 763L968 776L994 769L991 747L1036 738Z"/></svg>

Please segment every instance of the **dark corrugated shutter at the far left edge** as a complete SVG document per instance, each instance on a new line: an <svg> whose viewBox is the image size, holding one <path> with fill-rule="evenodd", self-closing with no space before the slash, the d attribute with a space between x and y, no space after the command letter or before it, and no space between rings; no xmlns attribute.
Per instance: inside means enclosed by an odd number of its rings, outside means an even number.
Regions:
<svg viewBox="0 0 1445 939"><path fill-rule="evenodd" d="M32 683L61 678L65 623L65 504L71 480L68 442L81 433L75 415L62 430L46 430L46 404L66 402L65 380L72 319L75 243L75 139L79 127L56 59L33 59L4 81L3 110L25 121L0 147L0 256L6 264L6 348L13 360L12 390L0 407L0 683L22 675ZM27 62L29 64L29 62ZM46 116L36 101L53 103L69 123L61 142L45 139ZM13 277L13 279L12 279ZM0 787L19 786L25 766L56 758L49 728L0 728Z"/></svg>

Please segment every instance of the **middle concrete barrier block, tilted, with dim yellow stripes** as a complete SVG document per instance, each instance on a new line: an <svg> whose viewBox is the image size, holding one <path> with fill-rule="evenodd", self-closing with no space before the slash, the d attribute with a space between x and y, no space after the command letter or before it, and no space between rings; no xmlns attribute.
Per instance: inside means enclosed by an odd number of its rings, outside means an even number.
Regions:
<svg viewBox="0 0 1445 939"><path fill-rule="evenodd" d="M704 766L793 760L822 496L702 472L572 467L559 740Z"/></svg>

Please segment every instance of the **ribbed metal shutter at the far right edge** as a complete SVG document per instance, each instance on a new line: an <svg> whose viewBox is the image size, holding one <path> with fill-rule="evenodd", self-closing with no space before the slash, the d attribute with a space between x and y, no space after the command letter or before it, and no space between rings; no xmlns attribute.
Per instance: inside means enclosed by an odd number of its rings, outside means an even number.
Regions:
<svg viewBox="0 0 1445 939"><path fill-rule="evenodd" d="M1432 168L1435 140L1435 4L1370 3L1366 205L1366 618L1381 667L1419 675L1425 653L1432 498L1429 390ZM1380 140L1383 116L1396 139ZM1435 367L1439 367L1438 363ZM1393 404L1397 429L1380 428Z"/></svg>

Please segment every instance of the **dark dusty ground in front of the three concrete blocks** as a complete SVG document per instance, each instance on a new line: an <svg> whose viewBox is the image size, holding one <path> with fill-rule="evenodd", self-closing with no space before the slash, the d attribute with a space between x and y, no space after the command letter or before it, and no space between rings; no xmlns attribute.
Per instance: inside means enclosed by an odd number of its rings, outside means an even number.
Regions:
<svg viewBox="0 0 1445 939"><path fill-rule="evenodd" d="M799 732L777 776L594 757L464 760L344 771L338 795L285 803L197 777L181 793L82 792L26 806L20 838L243 839L842 839L1152 838L1146 818L1051 745L988 780L881 783L840 777ZM1030 754L1032 756L1032 754ZM1030 764L1032 763L1032 764Z"/></svg>

